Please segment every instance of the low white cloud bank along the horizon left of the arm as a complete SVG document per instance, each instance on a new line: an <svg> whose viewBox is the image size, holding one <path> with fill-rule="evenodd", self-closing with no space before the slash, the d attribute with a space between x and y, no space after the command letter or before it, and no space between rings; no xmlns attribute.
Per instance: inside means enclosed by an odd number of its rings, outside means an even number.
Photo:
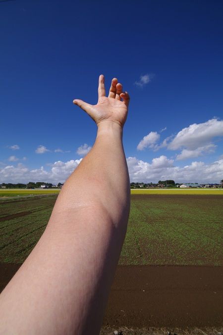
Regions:
<svg viewBox="0 0 223 335"><path fill-rule="evenodd" d="M43 166L38 169L29 169L22 163L17 166L8 165L0 168L0 183L28 183L42 180L46 183L57 184L64 182L76 169L82 159L57 161L52 164L50 171Z"/></svg>

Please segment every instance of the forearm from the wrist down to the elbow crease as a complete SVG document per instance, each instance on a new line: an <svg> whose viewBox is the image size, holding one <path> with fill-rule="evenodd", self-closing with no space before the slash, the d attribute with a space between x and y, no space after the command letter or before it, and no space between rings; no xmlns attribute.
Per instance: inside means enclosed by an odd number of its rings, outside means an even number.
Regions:
<svg viewBox="0 0 223 335"><path fill-rule="evenodd" d="M114 122L103 122L93 148L63 186L54 212L100 206L114 225L123 224L128 217L129 197L122 130Z"/></svg>

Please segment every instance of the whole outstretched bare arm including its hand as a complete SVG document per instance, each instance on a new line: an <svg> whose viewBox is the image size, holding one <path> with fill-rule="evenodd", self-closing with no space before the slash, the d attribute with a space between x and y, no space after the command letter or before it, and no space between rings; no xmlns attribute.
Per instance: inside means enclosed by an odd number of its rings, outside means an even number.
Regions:
<svg viewBox="0 0 223 335"><path fill-rule="evenodd" d="M0 294L0 334L99 334L126 233L130 186L122 145L129 95L75 99L98 126L90 152L64 184L47 228Z"/></svg>

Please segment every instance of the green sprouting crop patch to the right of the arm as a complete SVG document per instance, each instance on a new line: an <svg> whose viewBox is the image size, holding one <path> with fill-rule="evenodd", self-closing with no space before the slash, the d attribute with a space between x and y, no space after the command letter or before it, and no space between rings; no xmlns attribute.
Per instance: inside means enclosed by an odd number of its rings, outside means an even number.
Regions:
<svg viewBox="0 0 223 335"><path fill-rule="evenodd" d="M223 197L132 194L122 265L223 265Z"/></svg>

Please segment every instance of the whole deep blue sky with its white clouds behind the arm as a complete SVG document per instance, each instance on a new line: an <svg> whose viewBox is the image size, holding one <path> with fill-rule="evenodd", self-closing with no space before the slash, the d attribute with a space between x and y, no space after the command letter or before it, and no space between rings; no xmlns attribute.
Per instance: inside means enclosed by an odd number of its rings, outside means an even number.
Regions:
<svg viewBox="0 0 223 335"><path fill-rule="evenodd" d="M67 178L101 73L131 96L131 181L223 179L223 1L3 1L0 41L0 183Z"/></svg>

